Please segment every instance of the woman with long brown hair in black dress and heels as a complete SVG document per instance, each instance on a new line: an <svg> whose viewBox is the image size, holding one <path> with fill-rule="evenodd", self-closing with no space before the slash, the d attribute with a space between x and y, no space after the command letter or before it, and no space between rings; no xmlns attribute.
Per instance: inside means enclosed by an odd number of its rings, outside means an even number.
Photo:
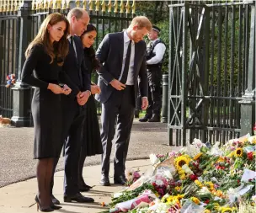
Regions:
<svg viewBox="0 0 256 213"><path fill-rule="evenodd" d="M62 70L68 53L68 33L69 23L64 15L47 16L25 52L21 75L22 82L35 87L31 104L35 125L34 158L38 159L35 201L45 212L61 208L51 202L50 183L54 157L60 157L61 153L61 93L67 95L71 88L75 89ZM61 83L65 83L63 88L59 86Z"/></svg>

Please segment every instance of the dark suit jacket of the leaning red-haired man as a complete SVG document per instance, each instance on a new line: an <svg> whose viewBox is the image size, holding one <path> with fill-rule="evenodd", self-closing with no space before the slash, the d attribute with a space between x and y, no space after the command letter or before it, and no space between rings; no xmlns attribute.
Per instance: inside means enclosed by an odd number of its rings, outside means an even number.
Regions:
<svg viewBox="0 0 256 213"><path fill-rule="evenodd" d="M105 35L104 40L99 45L96 58L102 66L98 70L98 85L101 93L95 96L100 103L108 101L111 93L115 90L109 83L115 78L119 79L122 70L124 53L124 32ZM143 40L135 44L134 58L134 88L135 99L138 89L141 97L147 97L147 69L146 69L146 44ZM138 83L138 77L140 78Z"/></svg>

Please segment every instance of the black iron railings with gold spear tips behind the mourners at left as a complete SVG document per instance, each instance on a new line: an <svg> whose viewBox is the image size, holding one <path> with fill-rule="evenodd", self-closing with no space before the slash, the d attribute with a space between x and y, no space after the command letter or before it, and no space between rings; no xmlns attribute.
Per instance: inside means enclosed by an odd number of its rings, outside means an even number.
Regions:
<svg viewBox="0 0 256 213"><path fill-rule="evenodd" d="M67 14L70 8L75 7L87 9L90 23L95 24L98 29L95 48L104 35L127 28L135 16L135 0L0 1L0 114L4 117L13 117L12 120L20 122L21 125L31 125L27 100L32 98L33 88L20 83L17 83L13 89L6 88L6 76L15 73L19 82L24 51L37 34L47 14L55 12ZM94 82L97 81L96 73L93 78Z"/></svg>

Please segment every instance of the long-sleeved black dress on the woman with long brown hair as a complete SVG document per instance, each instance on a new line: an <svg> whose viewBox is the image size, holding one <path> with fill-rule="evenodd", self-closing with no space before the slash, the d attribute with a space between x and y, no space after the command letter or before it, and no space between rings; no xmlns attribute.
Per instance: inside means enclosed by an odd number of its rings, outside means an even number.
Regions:
<svg viewBox="0 0 256 213"><path fill-rule="evenodd" d="M32 48L24 62L21 79L35 87L31 103L35 127L34 158L60 157L61 94L52 93L47 87L49 83L67 83L70 87L70 80L56 59L51 63L43 45Z"/></svg>

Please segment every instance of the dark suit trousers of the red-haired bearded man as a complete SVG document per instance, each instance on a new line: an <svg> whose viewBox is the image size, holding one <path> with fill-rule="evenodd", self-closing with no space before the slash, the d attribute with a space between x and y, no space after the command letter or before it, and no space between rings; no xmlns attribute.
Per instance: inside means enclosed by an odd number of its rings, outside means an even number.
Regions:
<svg viewBox="0 0 256 213"><path fill-rule="evenodd" d="M115 90L109 100L102 104L101 141L104 153L102 154L101 173L109 176L109 158L112 140L115 141L114 176L125 174L125 161L131 136L131 126L135 109L134 86L126 86L122 91Z"/></svg>

